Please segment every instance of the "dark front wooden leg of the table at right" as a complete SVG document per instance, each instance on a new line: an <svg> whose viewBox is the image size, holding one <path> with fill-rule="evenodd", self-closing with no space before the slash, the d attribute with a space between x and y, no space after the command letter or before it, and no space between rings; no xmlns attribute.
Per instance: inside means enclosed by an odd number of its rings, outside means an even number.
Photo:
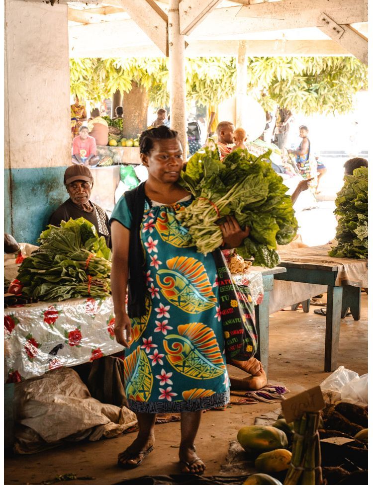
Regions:
<svg viewBox="0 0 373 485"><path fill-rule="evenodd" d="M337 368L342 292L342 286L328 286L325 327L325 372L333 372Z"/></svg>

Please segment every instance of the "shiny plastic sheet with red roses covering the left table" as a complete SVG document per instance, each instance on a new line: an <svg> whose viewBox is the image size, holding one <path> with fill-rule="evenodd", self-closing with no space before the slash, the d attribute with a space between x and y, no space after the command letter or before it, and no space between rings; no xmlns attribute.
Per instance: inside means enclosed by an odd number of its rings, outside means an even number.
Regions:
<svg viewBox="0 0 373 485"><path fill-rule="evenodd" d="M4 311L4 380L20 382L123 350L112 299L77 298Z"/></svg>

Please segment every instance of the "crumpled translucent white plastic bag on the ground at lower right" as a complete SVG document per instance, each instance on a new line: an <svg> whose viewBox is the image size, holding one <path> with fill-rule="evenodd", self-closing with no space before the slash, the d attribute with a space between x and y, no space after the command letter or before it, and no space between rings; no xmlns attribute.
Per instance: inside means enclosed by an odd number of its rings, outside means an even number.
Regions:
<svg viewBox="0 0 373 485"><path fill-rule="evenodd" d="M339 366L329 377L320 384L324 398L336 404L345 403L368 405L368 374L359 377L357 372Z"/></svg>

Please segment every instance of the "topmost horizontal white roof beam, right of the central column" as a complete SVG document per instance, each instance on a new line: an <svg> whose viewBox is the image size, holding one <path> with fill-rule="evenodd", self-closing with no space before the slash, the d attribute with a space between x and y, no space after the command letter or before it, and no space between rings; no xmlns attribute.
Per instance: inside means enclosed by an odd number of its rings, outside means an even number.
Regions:
<svg viewBox="0 0 373 485"><path fill-rule="evenodd" d="M242 7L215 8L194 30L198 38L247 32L320 27L325 12L338 24L368 21L368 0L282 0Z"/></svg>

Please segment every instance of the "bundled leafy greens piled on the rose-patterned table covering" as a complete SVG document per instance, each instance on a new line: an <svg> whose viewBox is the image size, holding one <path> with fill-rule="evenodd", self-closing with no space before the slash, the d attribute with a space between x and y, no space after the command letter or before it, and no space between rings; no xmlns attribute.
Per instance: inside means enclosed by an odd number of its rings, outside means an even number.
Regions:
<svg viewBox="0 0 373 485"><path fill-rule="evenodd" d="M81 217L48 228L19 267L22 293L47 302L109 296L111 251L93 224Z"/></svg>

